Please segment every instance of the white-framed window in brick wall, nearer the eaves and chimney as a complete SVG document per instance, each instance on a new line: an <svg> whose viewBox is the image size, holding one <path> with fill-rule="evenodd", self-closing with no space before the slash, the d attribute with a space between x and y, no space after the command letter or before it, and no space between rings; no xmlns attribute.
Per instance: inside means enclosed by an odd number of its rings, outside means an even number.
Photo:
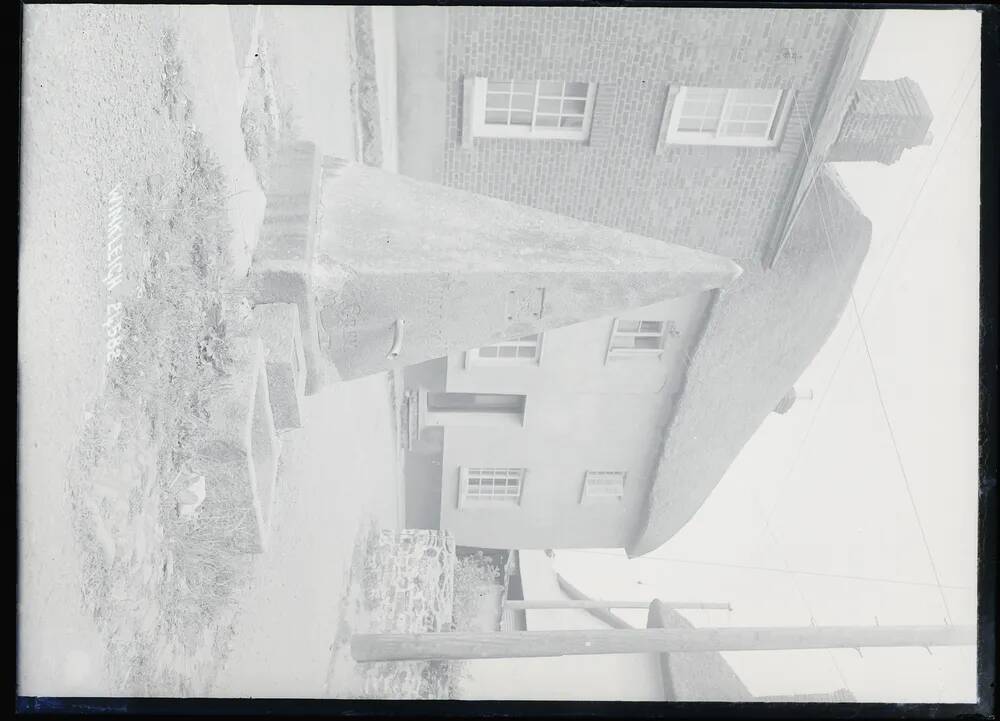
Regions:
<svg viewBox="0 0 1000 721"><path fill-rule="evenodd" d="M683 87L670 111L667 142L775 146L788 120L790 96L780 88Z"/></svg>

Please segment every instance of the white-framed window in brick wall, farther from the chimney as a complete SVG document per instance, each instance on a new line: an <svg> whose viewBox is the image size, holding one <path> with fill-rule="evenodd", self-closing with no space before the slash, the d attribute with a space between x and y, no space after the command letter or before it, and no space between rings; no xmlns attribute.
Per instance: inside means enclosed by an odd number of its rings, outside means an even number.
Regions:
<svg viewBox="0 0 1000 721"><path fill-rule="evenodd" d="M493 138L586 140L595 83L474 78L472 134Z"/></svg>

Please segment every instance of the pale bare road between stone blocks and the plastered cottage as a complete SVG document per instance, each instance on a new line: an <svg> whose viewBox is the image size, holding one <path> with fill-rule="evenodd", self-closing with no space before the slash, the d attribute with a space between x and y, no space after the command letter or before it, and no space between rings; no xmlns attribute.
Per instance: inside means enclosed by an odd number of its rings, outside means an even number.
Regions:
<svg viewBox="0 0 1000 721"><path fill-rule="evenodd" d="M359 529L399 527L391 406L385 374L306 399L304 427L283 438L270 548L211 695L324 694Z"/></svg>

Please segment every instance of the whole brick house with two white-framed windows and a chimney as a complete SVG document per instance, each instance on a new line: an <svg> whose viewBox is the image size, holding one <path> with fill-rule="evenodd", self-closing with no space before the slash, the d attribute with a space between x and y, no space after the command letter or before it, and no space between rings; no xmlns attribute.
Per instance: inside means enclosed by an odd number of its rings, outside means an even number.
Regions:
<svg viewBox="0 0 1000 721"><path fill-rule="evenodd" d="M849 109L838 160L930 120L912 82L858 87L880 11L396 14L400 172L741 263L771 264Z"/></svg>

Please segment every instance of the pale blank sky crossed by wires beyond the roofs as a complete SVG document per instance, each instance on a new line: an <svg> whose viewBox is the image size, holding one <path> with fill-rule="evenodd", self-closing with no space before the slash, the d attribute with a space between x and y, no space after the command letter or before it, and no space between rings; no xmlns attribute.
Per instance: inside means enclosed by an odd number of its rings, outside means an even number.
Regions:
<svg viewBox="0 0 1000 721"><path fill-rule="evenodd" d="M656 551L558 551L557 569L585 593L732 603L687 612L702 626L975 623L979 33L973 11L886 12L863 77L917 81L934 140L888 167L836 164L872 221L872 244L857 313L848 306L796 384L813 399L772 414ZM620 615L644 624L641 611ZM758 695L976 695L971 648L725 656Z"/></svg>

